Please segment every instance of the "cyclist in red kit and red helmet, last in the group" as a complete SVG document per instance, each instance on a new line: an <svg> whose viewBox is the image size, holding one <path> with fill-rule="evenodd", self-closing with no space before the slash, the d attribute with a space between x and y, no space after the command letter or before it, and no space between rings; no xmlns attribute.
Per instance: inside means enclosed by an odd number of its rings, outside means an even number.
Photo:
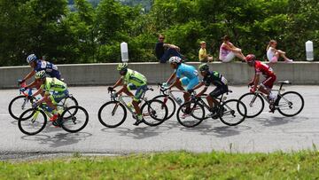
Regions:
<svg viewBox="0 0 319 180"><path fill-rule="evenodd" d="M261 61L256 60L256 56L253 54L248 54L245 57L245 60L247 64L250 67L253 67L255 70L253 80L248 83L248 85L253 86L250 91L255 92L257 90L257 85L261 79L260 76L261 74L263 74L266 79L261 82L258 89L262 93L268 95L268 99L270 100L270 102L274 102L276 100L276 95L271 93L271 89L274 85L274 82L276 81L276 74L274 73L273 69L271 67L268 67L268 65L261 63Z"/></svg>

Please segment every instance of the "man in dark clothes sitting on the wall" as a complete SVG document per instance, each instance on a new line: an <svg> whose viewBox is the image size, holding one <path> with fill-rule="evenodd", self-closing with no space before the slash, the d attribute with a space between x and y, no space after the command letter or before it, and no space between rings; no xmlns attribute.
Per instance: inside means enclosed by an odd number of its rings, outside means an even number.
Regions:
<svg viewBox="0 0 319 180"><path fill-rule="evenodd" d="M182 59L180 48L174 44L164 43L165 35L159 35L159 42L155 46L155 55L160 63L166 63L172 56Z"/></svg>

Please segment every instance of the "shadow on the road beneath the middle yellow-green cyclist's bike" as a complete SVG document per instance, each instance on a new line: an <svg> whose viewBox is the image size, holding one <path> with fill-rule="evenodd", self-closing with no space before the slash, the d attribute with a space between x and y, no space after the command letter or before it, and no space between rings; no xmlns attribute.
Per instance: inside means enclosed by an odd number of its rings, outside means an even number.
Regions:
<svg viewBox="0 0 319 180"><path fill-rule="evenodd" d="M129 128L116 128L116 129L109 129L105 128L102 129L104 132L110 132L120 134L121 137L132 137L134 139L144 139L144 138L150 138L150 137L156 137L159 135L159 133L162 133L165 129L160 127L137 127L134 129Z"/></svg>

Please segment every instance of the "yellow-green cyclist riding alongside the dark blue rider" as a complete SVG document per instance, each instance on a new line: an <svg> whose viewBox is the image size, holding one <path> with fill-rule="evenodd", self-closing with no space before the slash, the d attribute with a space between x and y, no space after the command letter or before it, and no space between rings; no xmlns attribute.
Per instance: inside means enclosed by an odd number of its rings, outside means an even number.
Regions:
<svg viewBox="0 0 319 180"><path fill-rule="evenodd" d="M48 106L47 110L53 114L50 118L50 121L56 121L58 119L57 104L63 98L68 96L66 83L58 80L55 77L46 77L44 70L36 72L35 82L37 84L41 84L41 86L40 89L31 96L31 98L43 92L44 97L35 102L32 106L36 107L45 102Z"/></svg>

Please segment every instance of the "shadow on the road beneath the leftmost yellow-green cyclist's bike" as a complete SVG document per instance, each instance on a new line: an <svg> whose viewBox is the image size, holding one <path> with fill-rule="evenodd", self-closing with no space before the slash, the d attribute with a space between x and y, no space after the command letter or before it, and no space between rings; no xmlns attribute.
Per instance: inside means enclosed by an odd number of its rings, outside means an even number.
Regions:
<svg viewBox="0 0 319 180"><path fill-rule="evenodd" d="M84 137L91 137L88 132L77 133L58 133L54 136L35 135L21 137L23 140L38 142L40 145L49 145L50 147L61 147L65 145L73 145L81 141Z"/></svg>

